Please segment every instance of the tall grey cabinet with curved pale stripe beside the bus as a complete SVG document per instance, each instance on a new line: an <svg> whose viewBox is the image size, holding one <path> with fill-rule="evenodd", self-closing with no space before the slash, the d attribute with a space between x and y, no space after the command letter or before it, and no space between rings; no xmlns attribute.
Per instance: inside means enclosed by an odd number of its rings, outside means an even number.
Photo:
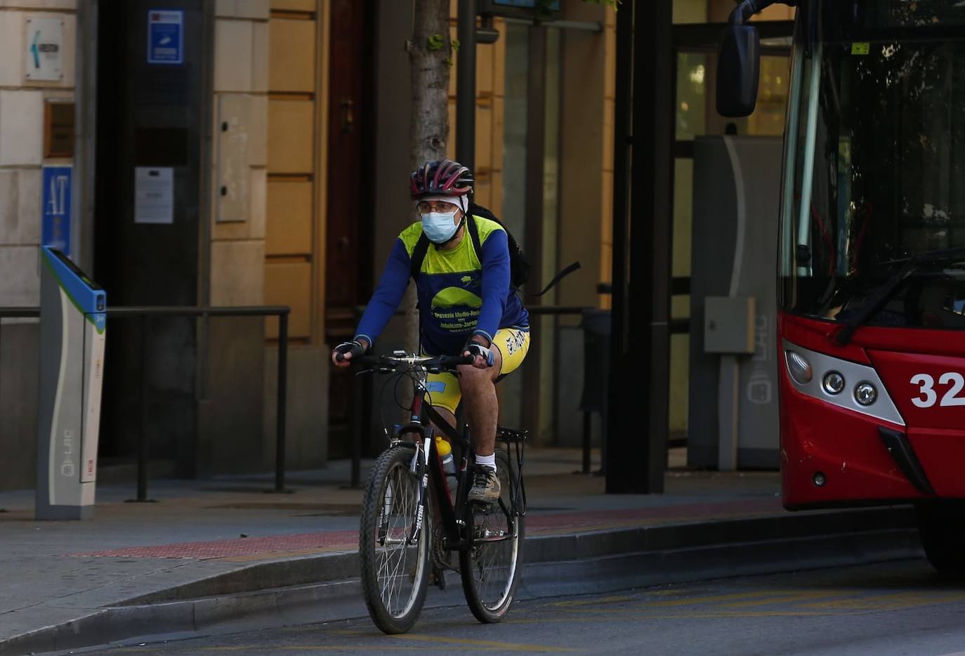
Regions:
<svg viewBox="0 0 965 656"><path fill-rule="evenodd" d="M781 153L779 137L694 140L691 467L732 471L781 463L774 276Z"/></svg>

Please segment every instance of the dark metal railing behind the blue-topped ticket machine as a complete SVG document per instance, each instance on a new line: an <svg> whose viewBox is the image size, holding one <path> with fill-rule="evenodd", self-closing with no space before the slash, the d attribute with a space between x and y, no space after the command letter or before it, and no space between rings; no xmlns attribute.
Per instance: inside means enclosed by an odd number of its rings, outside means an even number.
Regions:
<svg viewBox="0 0 965 656"><path fill-rule="evenodd" d="M107 308L107 318L141 319L141 408L140 435L137 447L137 498L133 501L148 501L148 334L149 318L152 316L277 316L278 317L278 391L275 418L275 492L285 491L285 433L286 404L288 402L288 350L289 350L289 306L255 307L194 307L194 306L130 306ZM2 318L36 318L41 315L40 308L0 308ZM0 334L2 339L2 334Z"/></svg>

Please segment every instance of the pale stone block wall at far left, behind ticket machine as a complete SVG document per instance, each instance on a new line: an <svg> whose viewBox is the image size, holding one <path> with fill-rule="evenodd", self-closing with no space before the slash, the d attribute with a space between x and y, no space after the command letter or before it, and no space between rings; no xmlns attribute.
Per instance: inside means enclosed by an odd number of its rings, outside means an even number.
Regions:
<svg viewBox="0 0 965 656"><path fill-rule="evenodd" d="M75 0L0 2L0 308L40 304L41 166L72 164L44 158L43 112L74 98L75 9ZM39 16L62 23L58 80L27 76L28 21ZM71 226L74 249L78 232ZM0 489L36 478L39 336L36 319L0 320Z"/></svg>

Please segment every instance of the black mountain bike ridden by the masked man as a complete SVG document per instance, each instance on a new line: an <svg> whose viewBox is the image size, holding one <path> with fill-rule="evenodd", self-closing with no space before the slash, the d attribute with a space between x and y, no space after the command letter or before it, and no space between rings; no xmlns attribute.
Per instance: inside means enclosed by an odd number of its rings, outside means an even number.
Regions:
<svg viewBox="0 0 965 656"><path fill-rule="evenodd" d="M483 623L502 620L510 610L522 563L527 431L497 430L497 442L505 446L496 450L499 502L469 503L474 463L469 426L459 421L453 427L438 415L427 402L431 393L426 381L429 373L457 374L455 368L471 364L472 358L396 351L391 356L362 357L358 363L366 368L360 373L396 374L397 392L400 380L408 378L414 385L409 422L394 426L391 433L385 430L389 448L375 461L362 505L359 557L372 621L388 634L408 631L425 603L430 569L435 584L445 588L445 571L455 570L449 562L453 552L458 553L458 572L472 614ZM389 382L391 378L386 385ZM455 476L444 471L430 422L460 451Z"/></svg>

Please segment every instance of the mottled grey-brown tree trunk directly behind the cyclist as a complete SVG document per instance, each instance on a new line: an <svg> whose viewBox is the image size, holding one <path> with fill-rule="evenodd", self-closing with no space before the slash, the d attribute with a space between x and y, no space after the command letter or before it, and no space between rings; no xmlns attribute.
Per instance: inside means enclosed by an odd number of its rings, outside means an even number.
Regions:
<svg viewBox="0 0 965 656"><path fill-rule="evenodd" d="M409 41L412 79L409 165L413 171L428 160L446 157L452 56L449 0L415 0L413 34ZM405 346L415 350L419 346L415 285L409 285L403 307Z"/></svg>

